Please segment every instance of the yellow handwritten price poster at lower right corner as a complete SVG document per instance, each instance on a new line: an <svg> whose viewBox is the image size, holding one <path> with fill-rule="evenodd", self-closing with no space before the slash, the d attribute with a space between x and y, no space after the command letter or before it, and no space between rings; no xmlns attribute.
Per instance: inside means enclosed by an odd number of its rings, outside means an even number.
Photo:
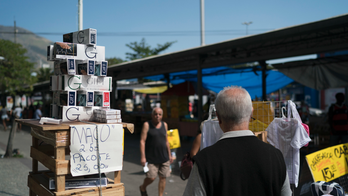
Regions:
<svg viewBox="0 0 348 196"><path fill-rule="evenodd" d="M329 182L348 173L348 143L319 150L306 159L314 182Z"/></svg>

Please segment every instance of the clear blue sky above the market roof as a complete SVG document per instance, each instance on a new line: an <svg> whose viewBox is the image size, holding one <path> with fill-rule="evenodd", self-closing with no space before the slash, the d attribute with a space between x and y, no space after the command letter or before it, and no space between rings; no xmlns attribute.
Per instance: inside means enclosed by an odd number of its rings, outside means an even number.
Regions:
<svg viewBox="0 0 348 196"><path fill-rule="evenodd" d="M347 0L205 0L205 44L260 34L348 13ZM0 25L53 42L78 30L78 0L0 0ZM251 23L250 23L251 22ZM250 23L245 25L243 23ZM126 59L126 44L145 38L164 53L201 45L200 0L84 0L83 29L97 29L106 58Z"/></svg>

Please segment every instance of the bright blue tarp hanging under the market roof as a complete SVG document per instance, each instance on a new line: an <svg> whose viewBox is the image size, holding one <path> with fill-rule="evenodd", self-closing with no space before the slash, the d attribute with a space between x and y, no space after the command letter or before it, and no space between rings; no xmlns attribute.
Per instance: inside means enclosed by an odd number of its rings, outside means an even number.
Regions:
<svg viewBox="0 0 348 196"><path fill-rule="evenodd" d="M267 70L266 93L272 93L293 80L279 71ZM179 84L185 81L197 82L197 70L170 73L170 83ZM165 81L164 75L145 77L154 81ZM202 85L205 89L219 93L226 86L242 86L252 99L262 97L262 72L254 68L233 69L215 67L202 69Z"/></svg>

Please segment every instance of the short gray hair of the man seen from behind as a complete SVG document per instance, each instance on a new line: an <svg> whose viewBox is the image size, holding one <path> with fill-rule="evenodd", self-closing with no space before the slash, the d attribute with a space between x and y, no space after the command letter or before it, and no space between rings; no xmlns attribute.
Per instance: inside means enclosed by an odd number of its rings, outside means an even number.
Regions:
<svg viewBox="0 0 348 196"><path fill-rule="evenodd" d="M225 87L216 97L215 108L224 122L241 124L249 121L252 113L250 94L240 86Z"/></svg>

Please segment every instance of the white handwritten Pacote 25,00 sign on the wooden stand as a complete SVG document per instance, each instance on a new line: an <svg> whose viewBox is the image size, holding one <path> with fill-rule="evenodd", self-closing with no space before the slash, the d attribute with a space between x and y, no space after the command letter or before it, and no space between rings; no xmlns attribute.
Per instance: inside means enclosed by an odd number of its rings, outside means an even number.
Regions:
<svg viewBox="0 0 348 196"><path fill-rule="evenodd" d="M122 170L122 124L71 125L70 172L73 176L98 173L97 139L101 173Z"/></svg>

